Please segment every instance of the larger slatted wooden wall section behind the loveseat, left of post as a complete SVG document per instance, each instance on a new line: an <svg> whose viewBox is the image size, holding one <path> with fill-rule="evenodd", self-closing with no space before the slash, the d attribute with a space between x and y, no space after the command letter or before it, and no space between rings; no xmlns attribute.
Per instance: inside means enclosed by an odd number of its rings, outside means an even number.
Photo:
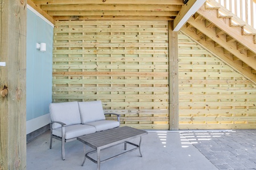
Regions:
<svg viewBox="0 0 256 170"><path fill-rule="evenodd" d="M168 129L167 24L56 22L53 102L101 100L122 126Z"/></svg>

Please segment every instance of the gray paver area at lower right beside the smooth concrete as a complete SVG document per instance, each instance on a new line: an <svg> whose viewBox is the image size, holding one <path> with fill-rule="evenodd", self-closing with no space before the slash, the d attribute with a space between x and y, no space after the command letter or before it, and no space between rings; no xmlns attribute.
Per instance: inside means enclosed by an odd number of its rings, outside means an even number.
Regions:
<svg viewBox="0 0 256 170"><path fill-rule="evenodd" d="M256 169L256 130L181 134L218 169Z"/></svg>

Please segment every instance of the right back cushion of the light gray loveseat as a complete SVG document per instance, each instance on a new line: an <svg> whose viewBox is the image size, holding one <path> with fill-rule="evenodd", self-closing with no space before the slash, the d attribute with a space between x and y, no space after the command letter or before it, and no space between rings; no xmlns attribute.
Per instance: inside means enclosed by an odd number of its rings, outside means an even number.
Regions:
<svg viewBox="0 0 256 170"><path fill-rule="evenodd" d="M101 101L79 102L79 110L82 124L105 120Z"/></svg>

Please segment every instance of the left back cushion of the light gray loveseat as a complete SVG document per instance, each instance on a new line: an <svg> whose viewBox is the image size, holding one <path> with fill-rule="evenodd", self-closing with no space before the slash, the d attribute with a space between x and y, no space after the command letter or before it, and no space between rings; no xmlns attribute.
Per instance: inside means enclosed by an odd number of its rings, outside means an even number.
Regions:
<svg viewBox="0 0 256 170"><path fill-rule="evenodd" d="M60 121L67 125L81 124L79 105L77 101L49 104L52 121ZM60 124L53 124L52 129L60 128Z"/></svg>

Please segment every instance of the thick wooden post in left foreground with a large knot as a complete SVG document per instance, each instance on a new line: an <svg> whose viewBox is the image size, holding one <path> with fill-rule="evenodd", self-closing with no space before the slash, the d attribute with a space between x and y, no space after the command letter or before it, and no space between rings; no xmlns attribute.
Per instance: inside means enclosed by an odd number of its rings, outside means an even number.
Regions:
<svg viewBox="0 0 256 170"><path fill-rule="evenodd" d="M0 0L0 169L26 169L26 0Z"/></svg>

